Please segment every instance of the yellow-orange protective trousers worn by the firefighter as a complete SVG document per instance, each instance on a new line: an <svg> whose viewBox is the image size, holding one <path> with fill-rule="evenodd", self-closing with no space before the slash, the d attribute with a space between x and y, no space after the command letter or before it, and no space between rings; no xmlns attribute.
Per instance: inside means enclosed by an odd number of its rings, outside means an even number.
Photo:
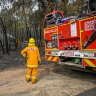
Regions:
<svg viewBox="0 0 96 96"><path fill-rule="evenodd" d="M29 81L32 77L32 81L37 80L38 67L27 68L26 80Z"/></svg>

